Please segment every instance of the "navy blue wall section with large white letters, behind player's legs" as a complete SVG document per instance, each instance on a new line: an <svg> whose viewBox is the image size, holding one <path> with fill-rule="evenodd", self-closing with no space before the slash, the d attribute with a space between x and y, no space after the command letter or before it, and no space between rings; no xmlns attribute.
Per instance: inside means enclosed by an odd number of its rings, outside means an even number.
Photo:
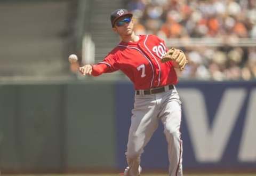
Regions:
<svg viewBox="0 0 256 176"><path fill-rule="evenodd" d="M255 170L256 82L181 82L177 89L182 101L183 168ZM131 84L119 83L115 92L117 163L123 168L134 91ZM142 166L167 169L166 146L161 124L142 154Z"/></svg>

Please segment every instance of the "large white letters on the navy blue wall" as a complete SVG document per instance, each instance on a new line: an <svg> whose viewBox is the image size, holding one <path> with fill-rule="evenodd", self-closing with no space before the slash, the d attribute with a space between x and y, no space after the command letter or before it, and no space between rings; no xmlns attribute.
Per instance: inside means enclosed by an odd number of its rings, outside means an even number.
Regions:
<svg viewBox="0 0 256 176"><path fill-rule="evenodd" d="M198 162L219 162L234 129L247 92L245 89L227 89L219 103L210 126L204 96L198 89L179 89L186 114L188 132ZM252 91L246 110L238 159L256 161L256 89Z"/></svg>

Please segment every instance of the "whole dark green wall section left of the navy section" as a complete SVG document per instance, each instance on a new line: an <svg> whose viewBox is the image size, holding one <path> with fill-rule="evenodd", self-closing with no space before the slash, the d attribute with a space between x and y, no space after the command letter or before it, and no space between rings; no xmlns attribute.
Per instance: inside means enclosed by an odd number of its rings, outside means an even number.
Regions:
<svg viewBox="0 0 256 176"><path fill-rule="evenodd" d="M111 83L0 86L1 170L115 166Z"/></svg>

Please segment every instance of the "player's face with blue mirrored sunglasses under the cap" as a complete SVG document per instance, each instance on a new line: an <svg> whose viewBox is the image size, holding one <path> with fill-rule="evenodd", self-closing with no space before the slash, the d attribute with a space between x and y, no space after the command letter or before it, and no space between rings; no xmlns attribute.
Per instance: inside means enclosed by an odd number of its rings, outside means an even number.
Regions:
<svg viewBox="0 0 256 176"><path fill-rule="evenodd" d="M133 33L133 21L130 17L122 17L115 23L113 30L122 36L129 36Z"/></svg>

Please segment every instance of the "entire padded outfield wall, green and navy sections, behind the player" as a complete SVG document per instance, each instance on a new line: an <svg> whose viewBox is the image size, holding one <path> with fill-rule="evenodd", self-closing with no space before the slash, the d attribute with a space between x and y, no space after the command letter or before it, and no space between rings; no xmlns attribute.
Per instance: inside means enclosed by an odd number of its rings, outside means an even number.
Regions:
<svg viewBox="0 0 256 176"><path fill-rule="evenodd" d="M180 82L184 170L256 165L256 82ZM122 170L133 108L129 82L0 86L0 170ZM160 125L142 167L167 170Z"/></svg>

